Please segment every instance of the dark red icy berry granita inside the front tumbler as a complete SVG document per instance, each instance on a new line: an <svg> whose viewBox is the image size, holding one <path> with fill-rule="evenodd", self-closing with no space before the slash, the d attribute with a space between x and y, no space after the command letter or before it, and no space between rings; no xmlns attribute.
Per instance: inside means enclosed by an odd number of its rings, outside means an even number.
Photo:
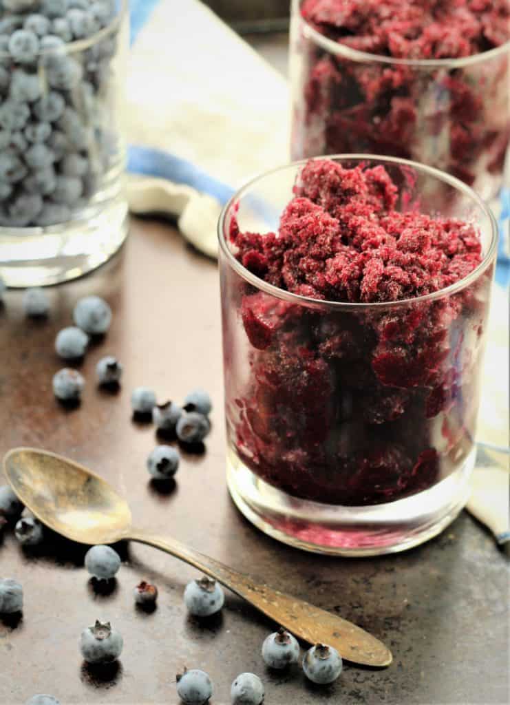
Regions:
<svg viewBox="0 0 510 705"><path fill-rule="evenodd" d="M479 224L424 207L409 166L351 164L293 165L274 232L245 231L232 205L227 425L287 494L372 505L471 457L492 266L443 294L485 262Z"/></svg>

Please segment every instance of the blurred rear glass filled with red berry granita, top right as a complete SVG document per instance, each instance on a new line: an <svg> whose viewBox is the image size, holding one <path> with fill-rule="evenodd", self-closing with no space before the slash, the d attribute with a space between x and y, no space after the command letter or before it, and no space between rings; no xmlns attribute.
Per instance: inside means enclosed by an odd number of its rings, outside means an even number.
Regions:
<svg viewBox="0 0 510 705"><path fill-rule="evenodd" d="M508 0L294 4L294 159L389 154L495 195L510 138Z"/></svg>

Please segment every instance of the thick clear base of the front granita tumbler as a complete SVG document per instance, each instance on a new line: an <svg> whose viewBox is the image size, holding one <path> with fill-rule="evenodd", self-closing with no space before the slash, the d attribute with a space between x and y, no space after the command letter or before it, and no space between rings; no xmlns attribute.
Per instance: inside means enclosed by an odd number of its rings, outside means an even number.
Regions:
<svg viewBox="0 0 510 705"><path fill-rule="evenodd" d="M249 521L273 539L313 553L378 556L428 541L447 527L468 501L475 448L464 464L432 488L378 505L344 507L293 497L257 477L233 450L227 483Z"/></svg>

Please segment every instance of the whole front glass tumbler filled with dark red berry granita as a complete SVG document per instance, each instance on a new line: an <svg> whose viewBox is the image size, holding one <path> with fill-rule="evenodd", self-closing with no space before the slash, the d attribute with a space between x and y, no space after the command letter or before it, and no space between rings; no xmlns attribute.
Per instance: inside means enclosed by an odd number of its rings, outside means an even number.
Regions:
<svg viewBox="0 0 510 705"><path fill-rule="evenodd" d="M371 555L464 506L497 226L391 157L270 171L219 223L228 486L263 531Z"/></svg>

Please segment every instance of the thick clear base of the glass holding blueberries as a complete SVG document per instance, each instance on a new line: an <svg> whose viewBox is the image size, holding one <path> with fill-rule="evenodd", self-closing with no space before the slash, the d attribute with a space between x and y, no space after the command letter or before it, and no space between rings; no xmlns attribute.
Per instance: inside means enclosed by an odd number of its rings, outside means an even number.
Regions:
<svg viewBox="0 0 510 705"><path fill-rule="evenodd" d="M44 228L0 228L0 276L10 287L47 286L104 264L128 235L121 195L80 219Z"/></svg>

